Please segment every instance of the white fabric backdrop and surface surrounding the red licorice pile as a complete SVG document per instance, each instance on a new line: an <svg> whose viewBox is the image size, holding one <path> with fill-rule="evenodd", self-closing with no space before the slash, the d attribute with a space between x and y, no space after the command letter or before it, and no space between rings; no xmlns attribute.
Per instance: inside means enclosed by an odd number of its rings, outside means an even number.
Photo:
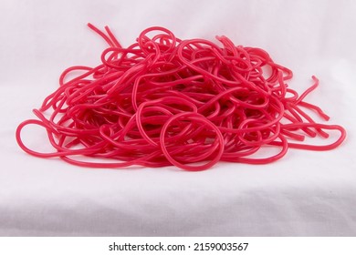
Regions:
<svg viewBox="0 0 356 255"><path fill-rule="evenodd" d="M0 0L0 235L355 236L355 1ZM335 150L289 150L266 166L220 163L204 172L89 169L26 155L16 126L58 87L67 66L97 66L106 46L87 27L109 25L129 46L142 29L215 35L267 49L294 71L330 123ZM49 148L39 128L28 144Z"/></svg>

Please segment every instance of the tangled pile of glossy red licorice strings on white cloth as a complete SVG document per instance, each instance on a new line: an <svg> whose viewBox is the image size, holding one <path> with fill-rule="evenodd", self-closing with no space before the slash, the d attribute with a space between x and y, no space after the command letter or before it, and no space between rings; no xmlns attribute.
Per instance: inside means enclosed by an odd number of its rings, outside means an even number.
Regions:
<svg viewBox="0 0 356 255"><path fill-rule="evenodd" d="M221 45L180 40L158 26L145 29L125 48L108 26L106 34L89 27L110 47L99 66L66 69L58 89L34 110L38 119L18 126L17 143L33 156L92 168L174 165L203 170L219 160L269 163L288 148L336 148L346 136L344 128L319 124L305 111L329 119L304 101L319 80L312 76L314 84L298 96L286 84L292 72L263 49L235 46L225 36L216 37ZM31 124L46 129L55 152L26 147L21 130ZM325 130L338 130L340 137L329 145L303 144L306 136L328 138ZM271 147L279 152L251 157Z"/></svg>

